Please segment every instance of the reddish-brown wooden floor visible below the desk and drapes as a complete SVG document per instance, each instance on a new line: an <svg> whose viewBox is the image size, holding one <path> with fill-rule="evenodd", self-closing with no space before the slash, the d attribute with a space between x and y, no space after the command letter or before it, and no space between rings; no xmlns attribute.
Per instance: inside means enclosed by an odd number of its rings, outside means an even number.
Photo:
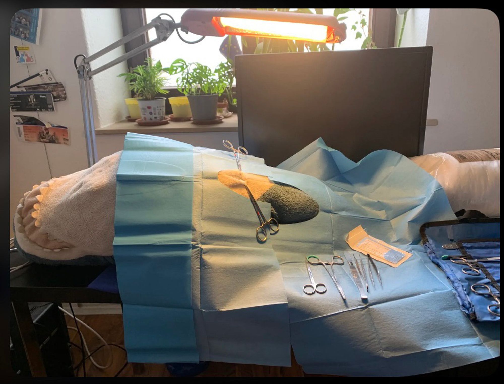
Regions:
<svg viewBox="0 0 504 384"><path fill-rule="evenodd" d="M124 333L122 328L122 315L85 315L77 316L91 328L93 328L103 339L108 343L113 343L124 347ZM67 325L75 327L72 317L66 316ZM92 352L102 343L100 340L87 328L80 326L89 350ZM76 331L69 330L70 340L80 346L80 338ZM112 346L113 363L109 368L98 369L90 359L86 360L86 376L93 377L111 377L114 376L126 362L126 353L120 348ZM73 366L77 366L82 360L82 352L80 349L72 346ZM108 354L105 348L101 348L93 355L95 361L99 365L106 365ZM198 376L201 377L316 377L323 375L306 374L303 372L300 365L297 364L294 354L291 350L291 367L274 367L255 364L232 364L221 362L210 362L209 367ZM119 374L119 377L168 377L170 372L164 364L135 364L128 363L127 366ZM76 376L83 376L82 366L76 372ZM335 377L335 376L331 376Z"/></svg>

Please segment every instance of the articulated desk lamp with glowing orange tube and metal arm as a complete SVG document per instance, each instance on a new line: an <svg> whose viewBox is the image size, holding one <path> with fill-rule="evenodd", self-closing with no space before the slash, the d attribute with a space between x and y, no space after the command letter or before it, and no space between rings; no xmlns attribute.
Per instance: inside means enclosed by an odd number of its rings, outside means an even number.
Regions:
<svg viewBox="0 0 504 384"><path fill-rule="evenodd" d="M170 20L162 19L168 16ZM111 50L127 43L134 38L155 28L156 38L108 63L91 69L91 61L103 56ZM186 41L178 32L192 32L202 37L196 41ZM93 118L93 102L91 97L90 80L94 75L115 66L119 62L129 59L150 47L165 41L175 31L180 39L186 43L196 43L205 36L254 36L274 39L291 39L319 43L338 43L346 38L346 25L338 23L334 16L314 15L295 12L271 12L242 9L188 9L181 17L180 23L168 14L160 14L150 23L124 36L122 39L108 45L98 52L86 57L83 54L74 58L74 65L79 77L81 90L82 112L86 131L86 147L88 164L91 167L98 160L96 152L96 138ZM77 58L82 56L80 65Z"/></svg>

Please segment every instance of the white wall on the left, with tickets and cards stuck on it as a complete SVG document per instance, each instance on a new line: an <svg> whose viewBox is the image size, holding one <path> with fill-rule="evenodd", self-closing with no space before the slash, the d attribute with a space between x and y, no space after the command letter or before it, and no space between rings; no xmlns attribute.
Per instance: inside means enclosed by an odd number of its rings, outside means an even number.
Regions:
<svg viewBox="0 0 504 384"><path fill-rule="evenodd" d="M33 184L87 168L79 82L73 60L77 54L94 53L120 36L122 36L122 27L118 9L50 8L42 10L38 45L10 37L11 84L47 68L57 81L63 83L67 91L67 100L55 103L55 112L11 112L9 127L10 217L14 216L19 199L27 190L31 189ZM14 45L29 45L33 50L36 62L32 64L16 63ZM118 55L119 51L120 49L113 54ZM127 115L127 108L123 100L124 95L127 95L127 87L121 78L116 77L124 70L125 65L118 65L93 79L93 82L100 83L100 92L95 95L97 127L108 125L116 121L116 118L120 120ZM30 83L38 83L38 79L26 84ZM68 126L70 145L18 141L14 131L15 120L12 117L15 114L38 116L42 120Z"/></svg>

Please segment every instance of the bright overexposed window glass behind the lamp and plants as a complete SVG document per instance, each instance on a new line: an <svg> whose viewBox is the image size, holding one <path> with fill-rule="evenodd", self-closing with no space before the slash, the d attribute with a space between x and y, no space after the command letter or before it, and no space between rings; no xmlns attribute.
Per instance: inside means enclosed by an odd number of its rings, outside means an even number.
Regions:
<svg viewBox="0 0 504 384"><path fill-rule="evenodd" d="M145 16L147 22L150 22L156 16L161 13L167 13L171 15L175 22L179 22L182 14L187 10L187 8L146 8ZM315 13L315 10L311 10ZM367 35L368 27L366 25L361 28L360 24L356 25L356 30L352 30L350 27L354 25L355 22L359 22L359 14L361 11L362 14L366 15L366 21L369 20L369 9L356 9L356 11L347 12L340 17L346 17L347 19L342 20L342 23L347 25L347 38L341 44L335 44L334 50L347 50L347 49L360 49L362 45L363 37L356 39L356 32L360 32L361 34ZM323 8L324 15L333 15L334 8ZM166 16L163 16L166 18ZM195 35L192 33L185 34L181 32L182 37L185 40L197 40L201 38L199 35ZM151 29L149 31L149 40L153 40L156 38L156 31ZM216 37L216 36L208 36L203 41L197 44L186 44L182 40L178 38L175 34L170 36L170 38L163 44L158 44L150 49L151 57L154 60L161 60L161 63L164 67L168 67L173 60L176 58L183 58L187 62L198 61L203 65L206 65L210 68L215 68L220 62L225 60L225 57L220 53L219 48L222 44L223 40L227 39L227 37ZM241 49L241 38L237 38L238 45ZM332 45L328 44L329 49L332 49ZM307 50L307 48L305 48ZM170 76L168 78L168 86L176 87L176 79L180 75Z"/></svg>

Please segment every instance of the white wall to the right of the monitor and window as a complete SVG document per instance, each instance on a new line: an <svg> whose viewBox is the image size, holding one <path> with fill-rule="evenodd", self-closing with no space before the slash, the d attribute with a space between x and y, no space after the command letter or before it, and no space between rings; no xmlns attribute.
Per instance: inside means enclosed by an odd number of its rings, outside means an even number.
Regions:
<svg viewBox="0 0 504 384"><path fill-rule="evenodd" d="M396 25L396 45L402 25ZM424 153L500 147L500 31L483 9L412 9L402 47L433 47Z"/></svg>

